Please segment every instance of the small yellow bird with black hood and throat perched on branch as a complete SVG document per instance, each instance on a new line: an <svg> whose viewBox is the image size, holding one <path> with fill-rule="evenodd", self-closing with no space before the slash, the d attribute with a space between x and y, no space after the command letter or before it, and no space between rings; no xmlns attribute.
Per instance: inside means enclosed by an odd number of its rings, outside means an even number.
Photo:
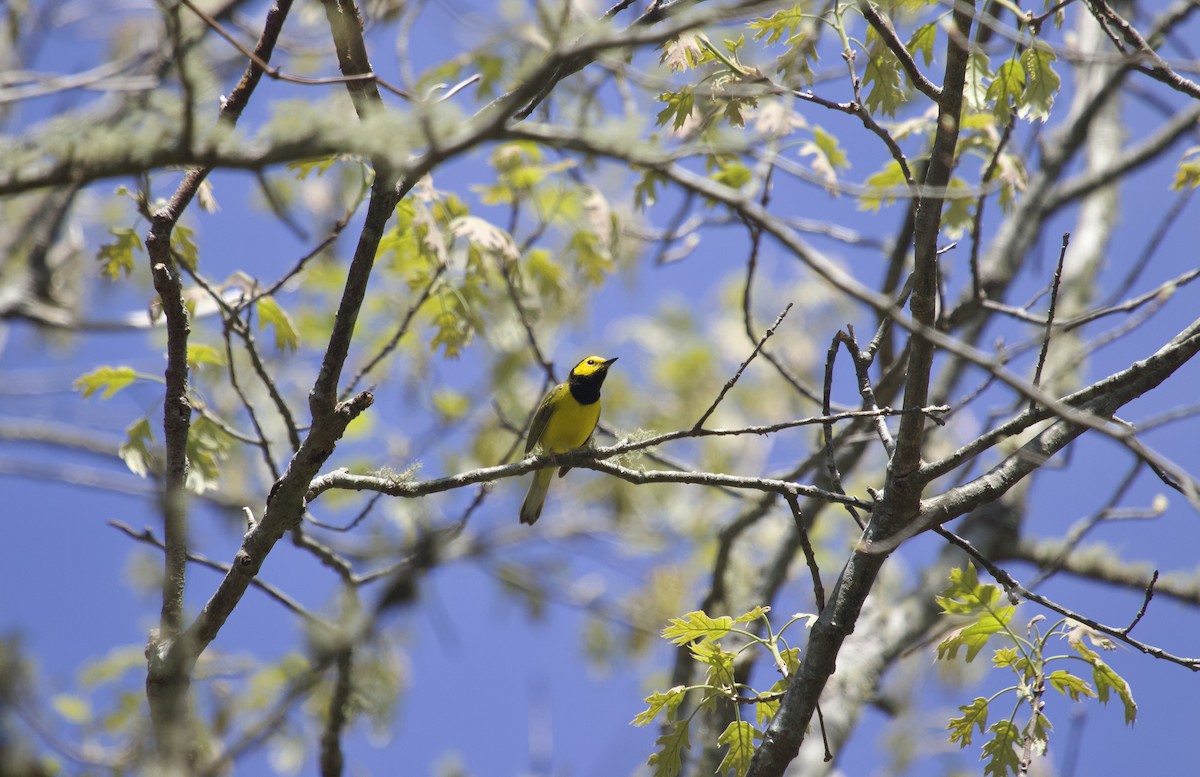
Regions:
<svg viewBox="0 0 1200 777"><path fill-rule="evenodd" d="M588 356L571 369L566 383L546 392L533 415L533 423L529 424L526 456L539 446L550 454L583 447L600 420L600 386L614 361L616 356ZM566 475L569 469L559 468L558 476ZM541 516L553 472L553 468L546 468L533 474L533 482L521 505L521 523L532 526Z"/></svg>

